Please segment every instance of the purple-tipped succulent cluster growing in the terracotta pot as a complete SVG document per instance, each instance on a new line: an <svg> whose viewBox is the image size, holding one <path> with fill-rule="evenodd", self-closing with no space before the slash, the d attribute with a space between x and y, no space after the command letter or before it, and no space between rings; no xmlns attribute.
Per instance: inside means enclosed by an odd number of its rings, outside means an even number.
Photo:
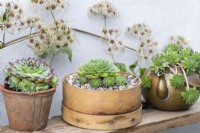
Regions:
<svg viewBox="0 0 200 133"><path fill-rule="evenodd" d="M58 81L53 69L46 62L34 58L9 63L4 73L5 85L15 91L44 91L56 87Z"/></svg>

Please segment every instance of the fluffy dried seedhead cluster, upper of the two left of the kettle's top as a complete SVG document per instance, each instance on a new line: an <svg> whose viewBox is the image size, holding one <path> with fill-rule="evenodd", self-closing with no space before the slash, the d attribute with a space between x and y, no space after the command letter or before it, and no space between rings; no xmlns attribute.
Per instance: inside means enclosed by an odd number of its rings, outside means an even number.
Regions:
<svg viewBox="0 0 200 133"><path fill-rule="evenodd" d="M143 23L134 24L132 27L128 27L128 32L140 39L151 35L150 27Z"/></svg>

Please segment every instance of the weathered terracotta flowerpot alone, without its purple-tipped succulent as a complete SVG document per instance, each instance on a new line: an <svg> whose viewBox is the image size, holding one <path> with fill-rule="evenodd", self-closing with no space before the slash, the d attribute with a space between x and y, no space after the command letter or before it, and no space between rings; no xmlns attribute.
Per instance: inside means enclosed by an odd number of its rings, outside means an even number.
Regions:
<svg viewBox="0 0 200 133"><path fill-rule="evenodd" d="M0 86L7 110L9 127L18 131L36 131L47 126L53 94L56 89L41 92L16 92Z"/></svg>

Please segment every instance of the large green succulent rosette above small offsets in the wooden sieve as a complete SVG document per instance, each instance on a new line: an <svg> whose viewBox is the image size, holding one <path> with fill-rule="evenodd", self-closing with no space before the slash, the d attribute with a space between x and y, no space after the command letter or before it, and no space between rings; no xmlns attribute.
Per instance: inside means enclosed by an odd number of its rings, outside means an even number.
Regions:
<svg viewBox="0 0 200 133"><path fill-rule="evenodd" d="M118 75L117 72L119 72L119 69L114 64L103 59L95 59L81 66L78 70L78 75L94 79L116 76Z"/></svg>

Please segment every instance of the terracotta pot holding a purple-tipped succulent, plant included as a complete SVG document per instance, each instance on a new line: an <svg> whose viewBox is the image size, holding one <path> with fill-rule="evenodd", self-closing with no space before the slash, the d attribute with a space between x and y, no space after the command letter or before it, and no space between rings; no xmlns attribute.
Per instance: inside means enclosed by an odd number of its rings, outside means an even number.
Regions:
<svg viewBox="0 0 200 133"><path fill-rule="evenodd" d="M20 131L45 128L57 86L53 69L46 62L28 58L9 63L4 73L5 84L0 90L9 127Z"/></svg>

